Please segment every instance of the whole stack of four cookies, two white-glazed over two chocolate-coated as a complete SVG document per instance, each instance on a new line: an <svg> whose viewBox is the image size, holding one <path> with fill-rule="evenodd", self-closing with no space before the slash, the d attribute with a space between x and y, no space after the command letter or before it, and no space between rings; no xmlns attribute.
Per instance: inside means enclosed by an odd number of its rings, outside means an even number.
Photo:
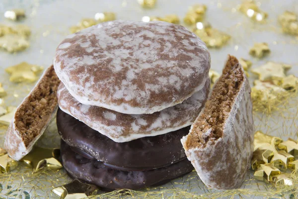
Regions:
<svg viewBox="0 0 298 199"><path fill-rule="evenodd" d="M116 20L68 36L54 68L64 168L107 190L193 170L180 139L210 91L210 54L186 28Z"/></svg>

